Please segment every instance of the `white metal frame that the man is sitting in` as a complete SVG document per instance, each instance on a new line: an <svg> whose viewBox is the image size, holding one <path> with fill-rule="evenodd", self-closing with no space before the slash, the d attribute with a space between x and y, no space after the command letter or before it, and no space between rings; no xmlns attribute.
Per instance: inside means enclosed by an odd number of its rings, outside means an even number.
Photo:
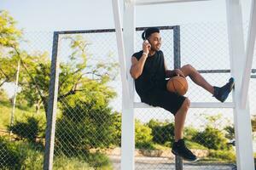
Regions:
<svg viewBox="0 0 256 170"><path fill-rule="evenodd" d="M121 65L125 67L126 75L128 72L128 68L130 68L131 62L127 61L126 56L130 56L134 52L134 32L135 32L135 6L136 5L148 5L148 4L160 4L160 3L187 3L187 2L195 2L202 0L125 0L124 7L124 32L119 32L117 34L117 39L120 39L124 36L124 45L125 55L122 56L126 59L126 65ZM254 0L253 0L254 2ZM243 42L243 30L242 30L242 16L241 16L241 3L240 0L226 0L226 8L227 8L227 21L228 21L228 34L229 34L229 43L230 43L230 64L231 64L231 75L235 77L236 80L236 90L233 92L233 100L234 103L228 104L214 104L211 106L216 107L224 107L229 106L234 108L234 119L235 119L235 132L236 132L236 163L239 170L243 169L253 169L254 161L253 161L253 143L252 143L252 127L250 122L250 113L249 106L247 102L247 88L248 88L248 79L250 77L250 70L252 68L251 60L252 60L252 50L253 50L253 42L255 41L255 3L252 3L251 8L251 20L250 20L250 28L248 34L247 41L247 55L245 55L245 48ZM120 16L116 16L119 13L119 1L113 0L113 14L115 22L119 23L119 27L116 29L121 30L121 20ZM115 25L117 26L117 25ZM253 30L254 28L254 30ZM129 65L130 64L130 65ZM249 68L247 68L249 67ZM243 72L241 72L243 71ZM129 88L133 88L133 80L131 77L128 78L128 86ZM241 80L246 81L243 85ZM126 138L124 144L129 143L128 145L123 145L122 142L122 161L121 161L121 169L134 169L134 119L133 119L133 93L134 90L130 91L130 99L123 98L123 112L126 114L130 114L130 116L126 117L127 119L123 119L122 129L124 132L128 131L128 135L130 138ZM241 99L242 96L242 99ZM127 103L125 103L127 101ZM241 104L245 103L245 107L241 107ZM125 105L126 104L126 105ZM193 105L193 104L192 104ZM197 105L197 107L205 107L206 105ZM129 129L129 130L127 130ZM123 133L123 131L122 131ZM123 136L126 136L126 133L123 133L122 140L125 139ZM132 151L129 151L132 150Z"/></svg>

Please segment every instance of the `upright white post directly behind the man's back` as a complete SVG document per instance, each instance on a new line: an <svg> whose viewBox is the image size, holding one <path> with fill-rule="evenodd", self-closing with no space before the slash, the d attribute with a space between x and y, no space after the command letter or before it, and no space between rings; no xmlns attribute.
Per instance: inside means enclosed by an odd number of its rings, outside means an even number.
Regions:
<svg viewBox="0 0 256 170"><path fill-rule="evenodd" d="M118 1L118 0L116 0ZM125 43L125 62L128 80L129 95L123 94L122 112L122 141L121 141L121 169L133 170L135 152L135 119L134 119L134 86L130 75L131 55L135 50L135 7L130 1L124 2L124 43Z"/></svg>

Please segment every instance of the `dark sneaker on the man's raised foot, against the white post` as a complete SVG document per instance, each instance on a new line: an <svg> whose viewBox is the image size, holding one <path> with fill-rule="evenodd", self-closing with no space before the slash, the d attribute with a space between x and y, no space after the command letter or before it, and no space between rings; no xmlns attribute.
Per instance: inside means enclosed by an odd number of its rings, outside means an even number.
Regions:
<svg viewBox="0 0 256 170"><path fill-rule="evenodd" d="M234 78L231 77L229 82L227 82L223 87L213 87L214 88L214 94L213 97L218 99L221 102L224 102L228 97L232 89L235 87L235 81Z"/></svg>

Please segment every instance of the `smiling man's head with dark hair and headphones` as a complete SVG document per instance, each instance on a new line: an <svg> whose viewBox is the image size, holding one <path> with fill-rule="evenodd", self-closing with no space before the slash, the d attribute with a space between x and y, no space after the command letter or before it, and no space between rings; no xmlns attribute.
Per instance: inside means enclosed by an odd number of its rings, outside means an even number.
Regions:
<svg viewBox="0 0 256 170"><path fill-rule="evenodd" d="M158 51L161 46L160 29L157 27L149 27L142 34L143 40L148 40L151 50Z"/></svg>

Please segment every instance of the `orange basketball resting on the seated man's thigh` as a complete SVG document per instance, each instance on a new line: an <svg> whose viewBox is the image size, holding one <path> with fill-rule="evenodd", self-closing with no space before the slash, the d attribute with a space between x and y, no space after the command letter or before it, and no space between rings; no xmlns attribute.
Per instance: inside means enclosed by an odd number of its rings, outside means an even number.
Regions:
<svg viewBox="0 0 256 170"><path fill-rule="evenodd" d="M184 77L172 77L167 82L166 88L170 92L184 95L188 91L189 84Z"/></svg>

